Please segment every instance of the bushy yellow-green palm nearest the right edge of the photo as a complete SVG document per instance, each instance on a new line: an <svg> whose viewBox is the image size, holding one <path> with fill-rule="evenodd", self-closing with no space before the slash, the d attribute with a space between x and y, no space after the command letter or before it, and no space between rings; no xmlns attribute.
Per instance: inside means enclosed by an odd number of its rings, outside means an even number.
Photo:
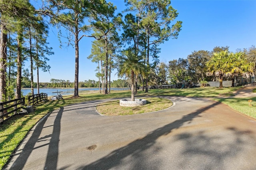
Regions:
<svg viewBox="0 0 256 170"><path fill-rule="evenodd" d="M232 79L232 87L234 87L235 77L242 75L249 77L253 74L254 66L253 63L248 63L245 53L241 51L238 53L230 53L230 71L227 73Z"/></svg>

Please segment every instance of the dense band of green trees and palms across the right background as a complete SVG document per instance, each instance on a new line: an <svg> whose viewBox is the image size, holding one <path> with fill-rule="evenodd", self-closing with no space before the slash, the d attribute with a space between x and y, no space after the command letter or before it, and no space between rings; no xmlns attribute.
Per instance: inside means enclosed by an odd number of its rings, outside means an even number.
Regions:
<svg viewBox="0 0 256 170"><path fill-rule="evenodd" d="M187 58L179 58L168 63L160 62L152 70L152 85L176 84L182 81L199 83L202 81L232 80L237 77L254 76L256 73L256 47L237 49L214 47L212 51L193 51Z"/></svg>

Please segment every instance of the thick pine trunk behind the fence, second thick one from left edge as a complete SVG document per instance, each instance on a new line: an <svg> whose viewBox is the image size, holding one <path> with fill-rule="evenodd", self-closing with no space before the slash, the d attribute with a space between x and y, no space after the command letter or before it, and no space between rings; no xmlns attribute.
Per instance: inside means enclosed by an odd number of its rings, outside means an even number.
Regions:
<svg viewBox="0 0 256 170"><path fill-rule="evenodd" d="M16 84L16 99L21 98L21 74L22 74L22 40L23 35L21 28L18 30L18 38L17 38L17 84Z"/></svg>

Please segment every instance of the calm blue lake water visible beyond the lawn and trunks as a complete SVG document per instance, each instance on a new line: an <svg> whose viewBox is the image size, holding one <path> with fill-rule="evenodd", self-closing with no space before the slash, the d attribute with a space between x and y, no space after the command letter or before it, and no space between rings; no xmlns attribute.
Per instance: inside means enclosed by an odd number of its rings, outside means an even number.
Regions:
<svg viewBox="0 0 256 170"><path fill-rule="evenodd" d="M111 88L111 91L120 91L120 90L130 90L130 88ZM26 96L28 93L31 93L31 89L21 89L23 96ZM40 88L40 93L46 93L48 97L57 95L52 92L61 92L62 95L72 95L74 94L74 88L70 89L58 89L58 88ZM99 91L99 88L78 88L78 94L87 93L88 91ZM34 89L34 95L37 94L37 89Z"/></svg>

